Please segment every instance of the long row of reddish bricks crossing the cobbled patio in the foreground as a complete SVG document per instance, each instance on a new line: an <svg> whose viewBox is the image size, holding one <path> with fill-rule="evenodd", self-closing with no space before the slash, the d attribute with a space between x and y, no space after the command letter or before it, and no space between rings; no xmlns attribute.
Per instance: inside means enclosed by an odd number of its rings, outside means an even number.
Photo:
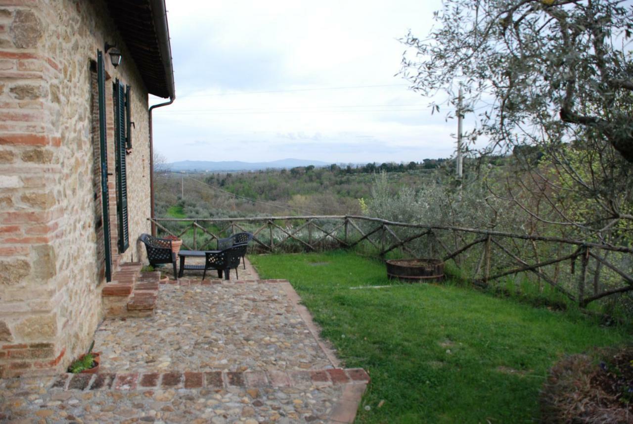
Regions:
<svg viewBox="0 0 633 424"><path fill-rule="evenodd" d="M51 389L149 390L227 389L229 387L299 387L370 382L363 368L329 368L313 371L197 371L164 373L62 374Z"/></svg>

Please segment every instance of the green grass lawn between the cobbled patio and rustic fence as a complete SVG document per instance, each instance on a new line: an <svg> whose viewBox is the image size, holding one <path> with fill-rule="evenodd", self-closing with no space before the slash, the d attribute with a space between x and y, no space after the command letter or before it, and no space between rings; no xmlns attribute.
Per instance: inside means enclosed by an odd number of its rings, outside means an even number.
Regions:
<svg viewBox="0 0 633 424"><path fill-rule="evenodd" d="M345 366L370 373L357 423L534 423L558 358L630 341L578 312L449 283L351 289L390 284L382 263L353 253L249 259L289 280Z"/></svg>

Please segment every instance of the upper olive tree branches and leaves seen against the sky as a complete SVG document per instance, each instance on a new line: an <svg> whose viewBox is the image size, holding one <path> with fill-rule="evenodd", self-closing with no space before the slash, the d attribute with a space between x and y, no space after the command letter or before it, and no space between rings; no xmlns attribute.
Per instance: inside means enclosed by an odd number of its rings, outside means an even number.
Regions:
<svg viewBox="0 0 633 424"><path fill-rule="evenodd" d="M507 147L546 125L556 135L544 142L589 132L633 163L630 4L448 0L436 20L426 39L402 40L414 53L405 53L401 73L425 96L446 90L454 99L463 85L470 110L492 99L471 140L486 135Z"/></svg>

